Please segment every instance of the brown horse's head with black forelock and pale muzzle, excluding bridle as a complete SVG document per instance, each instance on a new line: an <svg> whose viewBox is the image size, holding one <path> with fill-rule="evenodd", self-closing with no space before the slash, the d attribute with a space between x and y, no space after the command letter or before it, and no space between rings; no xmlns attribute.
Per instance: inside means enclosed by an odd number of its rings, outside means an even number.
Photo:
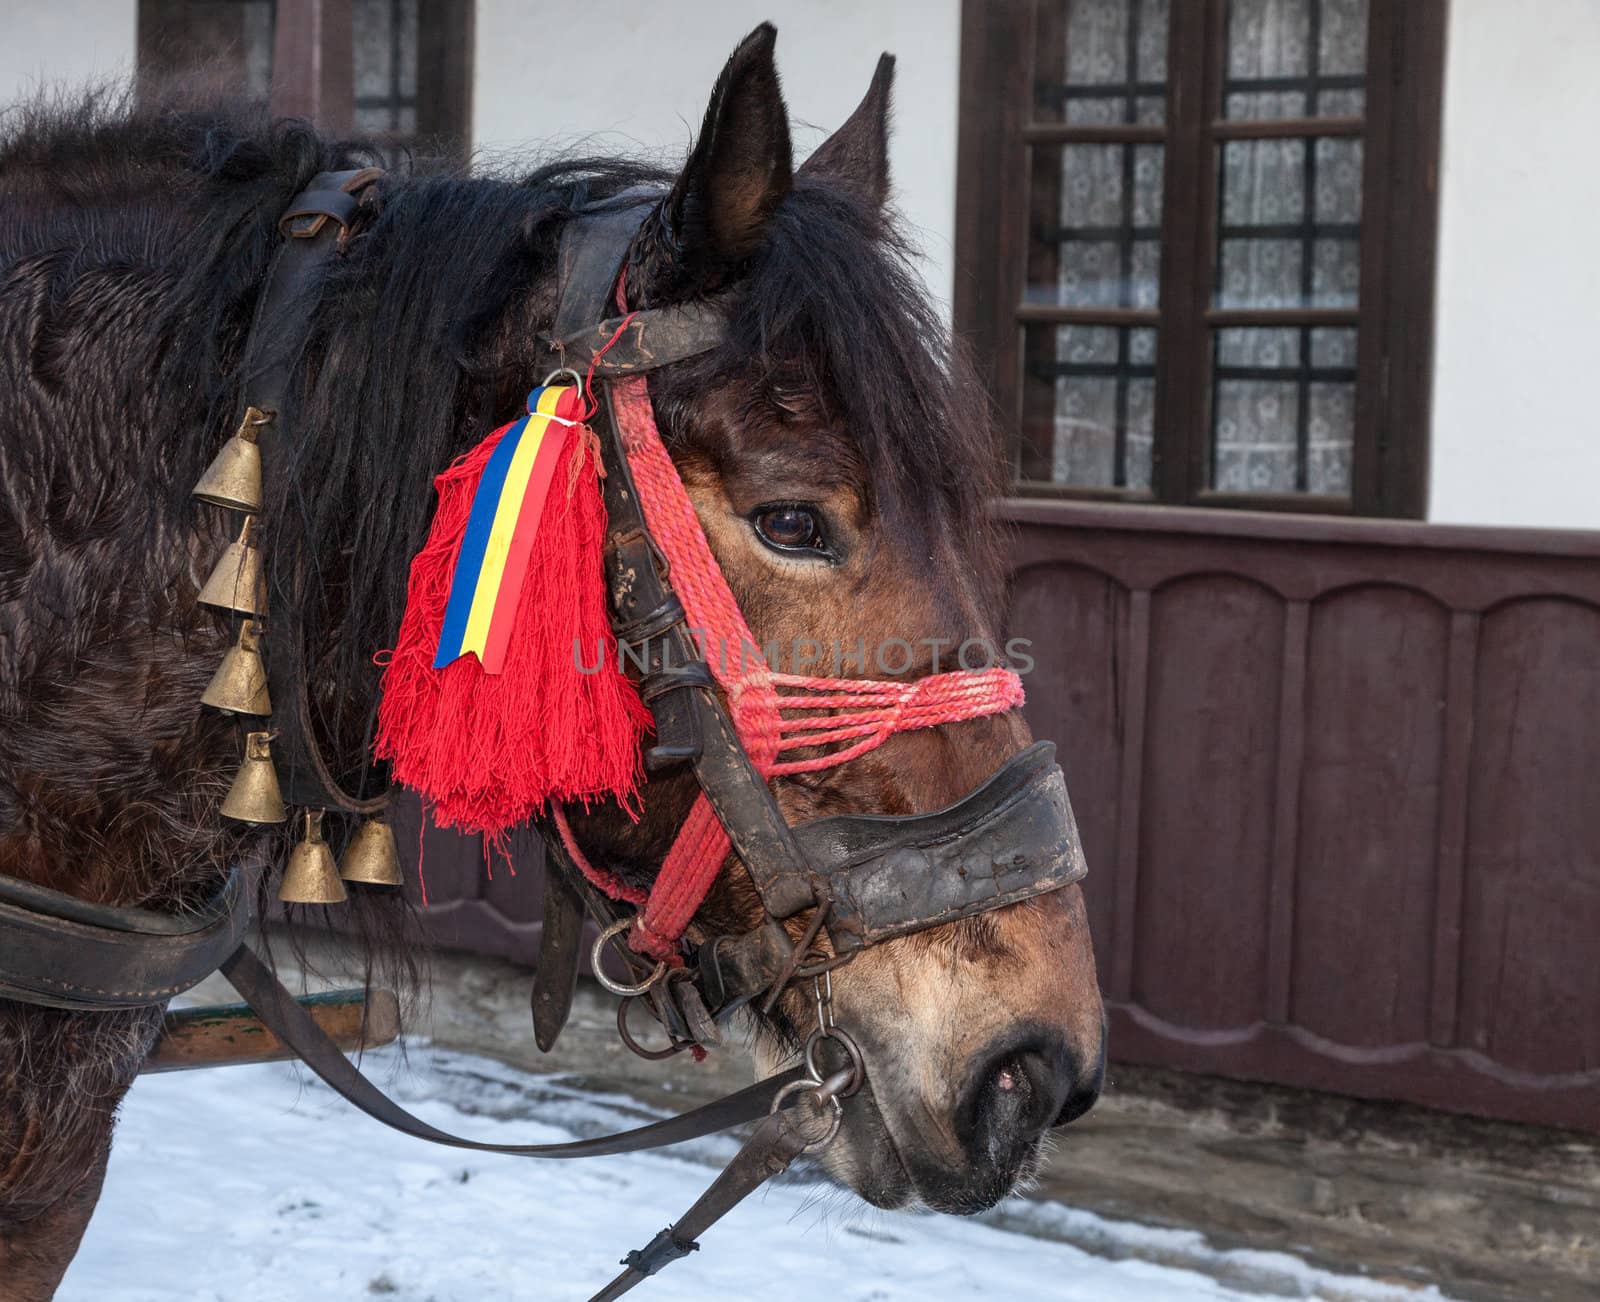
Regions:
<svg viewBox="0 0 1600 1302"><path fill-rule="evenodd" d="M630 248L630 307L715 296L728 318L718 347L651 376L650 398L773 669L971 669L1002 648L987 517L1000 441L888 208L893 61L795 168L773 42L762 27L734 51ZM792 825L923 814L1030 741L1013 709L898 733L848 763L778 776L773 792ZM594 811L578 841L648 883L694 797L683 771L654 777L640 822ZM690 936L747 933L762 912L730 854ZM789 920L795 937L805 921ZM878 1206L994 1204L1099 1091L1102 1011L1077 885L874 944L830 980L867 1088L822 1160ZM754 1024L757 1060L776 1070L818 1025L811 987Z"/></svg>

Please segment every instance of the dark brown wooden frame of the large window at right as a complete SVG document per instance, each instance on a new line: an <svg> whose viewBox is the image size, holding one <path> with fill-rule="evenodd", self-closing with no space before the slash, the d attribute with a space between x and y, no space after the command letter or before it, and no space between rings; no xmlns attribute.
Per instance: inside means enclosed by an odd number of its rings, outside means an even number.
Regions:
<svg viewBox="0 0 1600 1302"><path fill-rule="evenodd" d="M1130 0L1136 3L1136 0ZM1019 480L1021 496L1333 512L1421 518L1427 507L1438 240L1438 147L1446 0L1370 0L1365 118L1230 120L1221 115L1227 0L1174 0L1168 27L1166 123L1035 123L1038 6L1061 0L963 0L955 208L955 328L973 350L1019 465L1022 326L1091 323L1160 328L1155 451L1149 491ZM1203 58L1171 51L1203 50ZM1024 74L1018 75L1018 69ZM1365 123L1365 125L1363 125ZM1218 310L1216 146L1224 139L1358 134L1362 290L1344 309ZM1030 144L1163 141L1160 309L1024 304ZM1054 202L1054 197L1051 197ZM1350 496L1208 489L1211 331L1219 326L1355 326Z"/></svg>

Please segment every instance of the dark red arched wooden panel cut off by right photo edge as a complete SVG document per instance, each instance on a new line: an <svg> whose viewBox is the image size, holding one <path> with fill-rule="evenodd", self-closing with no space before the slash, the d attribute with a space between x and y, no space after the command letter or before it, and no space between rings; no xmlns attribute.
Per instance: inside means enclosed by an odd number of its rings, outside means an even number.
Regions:
<svg viewBox="0 0 1600 1302"><path fill-rule="evenodd" d="M1461 1044L1600 1084L1600 606L1502 605L1477 665Z"/></svg>

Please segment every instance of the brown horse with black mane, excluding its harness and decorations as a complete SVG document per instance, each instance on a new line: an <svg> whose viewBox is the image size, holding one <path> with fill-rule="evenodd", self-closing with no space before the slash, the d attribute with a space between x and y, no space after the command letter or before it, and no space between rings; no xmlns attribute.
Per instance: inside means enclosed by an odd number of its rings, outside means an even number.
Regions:
<svg viewBox="0 0 1600 1302"><path fill-rule="evenodd" d="M678 170L565 158L494 178L389 160L365 192L298 352L264 537L274 571L304 579L274 630L307 648L317 734L349 782L376 773L374 656L395 645L434 477L547 369L562 232L622 194L651 205L629 299L715 296L726 312L720 345L654 371L648 392L760 643L795 669L800 646L894 638L917 649L915 678L939 648L1000 635L1000 441L891 205L893 61L795 166L774 37L762 26L734 50ZM219 817L240 725L197 702L237 619L197 593L232 534L189 489L238 409L278 214L314 176L379 162L379 146L182 96L40 101L0 126L0 873L182 913L229 865L282 861L280 830ZM770 789L792 822L920 814L1030 741L1010 709ZM646 886L694 795L682 766L651 773L637 809L574 808L571 835ZM414 960L406 909L358 896L363 926ZM691 936L760 917L730 853ZM880 1208L992 1206L1101 1089L1077 885L898 936L829 976L867 1083L821 1163ZM818 1011L795 987L746 1016L771 1075ZM8 1302L58 1288L160 1019L0 1000Z"/></svg>

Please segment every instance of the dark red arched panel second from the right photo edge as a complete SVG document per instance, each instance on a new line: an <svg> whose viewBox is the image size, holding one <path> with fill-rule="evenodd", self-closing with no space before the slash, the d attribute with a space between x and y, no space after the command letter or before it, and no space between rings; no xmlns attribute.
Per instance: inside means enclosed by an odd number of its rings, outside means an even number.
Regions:
<svg viewBox="0 0 1600 1302"><path fill-rule="evenodd" d="M1290 1020L1427 1038L1450 613L1398 587L1310 611Z"/></svg>

